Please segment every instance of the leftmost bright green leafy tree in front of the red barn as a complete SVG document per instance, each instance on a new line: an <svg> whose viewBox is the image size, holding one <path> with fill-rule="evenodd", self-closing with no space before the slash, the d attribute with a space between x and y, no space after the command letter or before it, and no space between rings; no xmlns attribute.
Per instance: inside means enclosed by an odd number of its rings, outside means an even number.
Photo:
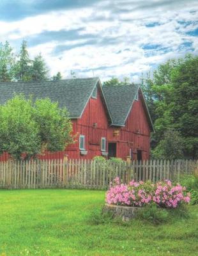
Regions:
<svg viewBox="0 0 198 256"><path fill-rule="evenodd" d="M31 100L15 96L0 107L0 152L20 159L22 153L33 156L40 152L39 127L34 120Z"/></svg>

